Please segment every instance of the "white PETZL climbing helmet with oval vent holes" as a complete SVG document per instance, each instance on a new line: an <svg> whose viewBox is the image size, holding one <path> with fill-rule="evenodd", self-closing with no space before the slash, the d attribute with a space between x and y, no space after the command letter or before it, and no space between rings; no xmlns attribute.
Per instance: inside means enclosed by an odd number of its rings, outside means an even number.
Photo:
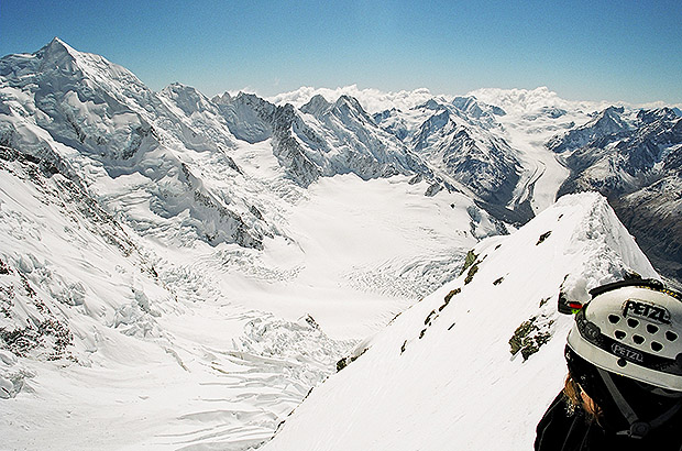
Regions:
<svg viewBox="0 0 682 451"><path fill-rule="evenodd" d="M568 345L595 366L682 392L682 295L653 279L590 292Z"/></svg>

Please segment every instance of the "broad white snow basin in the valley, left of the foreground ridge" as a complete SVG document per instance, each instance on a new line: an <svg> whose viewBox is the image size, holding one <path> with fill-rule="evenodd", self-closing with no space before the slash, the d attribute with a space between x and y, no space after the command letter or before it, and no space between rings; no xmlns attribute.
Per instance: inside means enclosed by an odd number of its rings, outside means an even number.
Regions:
<svg viewBox="0 0 682 451"><path fill-rule="evenodd" d="M352 175L304 191L277 177L271 158L267 146L235 153L254 177L240 189L270 184L256 199L264 211L279 205L270 215L282 234L262 252L167 245L187 240L174 223L182 218L145 212L144 188L130 177L96 177L95 188L110 194L113 211L138 211L150 226L140 231L139 221L92 224L78 202L59 202L58 176L40 178L41 188L16 163L0 170L1 257L11 271L0 282L14 284L13 314L41 317L32 306L42 301L73 333L56 362L3 351L0 376L12 391L2 399L3 446L257 446L359 340L451 277L477 241L472 230L494 231L460 195L426 198L427 186L405 177Z"/></svg>

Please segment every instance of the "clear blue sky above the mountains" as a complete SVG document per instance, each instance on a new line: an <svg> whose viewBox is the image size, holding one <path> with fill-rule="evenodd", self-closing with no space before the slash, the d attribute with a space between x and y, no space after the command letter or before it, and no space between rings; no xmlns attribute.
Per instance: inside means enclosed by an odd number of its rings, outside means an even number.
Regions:
<svg viewBox="0 0 682 451"><path fill-rule="evenodd" d="M1 55L54 36L155 90L548 86L682 103L681 0L0 0Z"/></svg>

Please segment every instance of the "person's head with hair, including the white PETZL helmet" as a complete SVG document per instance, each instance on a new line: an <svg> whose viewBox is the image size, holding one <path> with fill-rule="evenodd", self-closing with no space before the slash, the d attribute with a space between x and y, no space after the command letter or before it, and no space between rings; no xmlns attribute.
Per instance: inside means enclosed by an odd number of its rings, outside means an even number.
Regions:
<svg viewBox="0 0 682 451"><path fill-rule="evenodd" d="M590 293L568 338L565 392L576 383L602 426L644 437L682 405L682 295L641 279Z"/></svg>

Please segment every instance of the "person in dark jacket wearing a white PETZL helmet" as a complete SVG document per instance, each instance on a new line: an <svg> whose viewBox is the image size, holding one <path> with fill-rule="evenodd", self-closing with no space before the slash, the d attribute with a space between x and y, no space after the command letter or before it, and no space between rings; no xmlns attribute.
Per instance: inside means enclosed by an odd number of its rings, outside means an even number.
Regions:
<svg viewBox="0 0 682 451"><path fill-rule="evenodd" d="M654 279L590 292L537 451L682 450L682 294Z"/></svg>

